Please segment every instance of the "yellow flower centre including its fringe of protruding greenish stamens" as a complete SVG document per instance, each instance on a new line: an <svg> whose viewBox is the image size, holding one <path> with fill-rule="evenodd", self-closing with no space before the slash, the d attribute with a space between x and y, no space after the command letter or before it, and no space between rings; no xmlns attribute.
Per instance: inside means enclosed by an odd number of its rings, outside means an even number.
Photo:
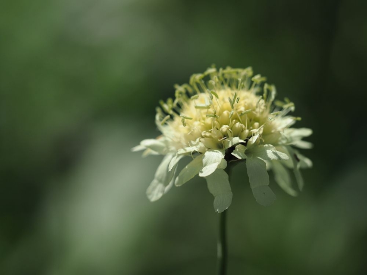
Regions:
<svg viewBox="0 0 367 275"><path fill-rule="evenodd" d="M207 76L210 78L205 83ZM265 84L262 88L263 81L260 75L252 77L251 68L211 68L195 74L190 85L176 86L174 101L161 102L157 124L176 148L199 140L207 149L223 149L227 138L246 141L257 134L261 137L258 143L267 143L264 137L274 138L279 132L275 118L285 115L293 104L283 103L286 108L282 112L271 113L275 87Z"/></svg>

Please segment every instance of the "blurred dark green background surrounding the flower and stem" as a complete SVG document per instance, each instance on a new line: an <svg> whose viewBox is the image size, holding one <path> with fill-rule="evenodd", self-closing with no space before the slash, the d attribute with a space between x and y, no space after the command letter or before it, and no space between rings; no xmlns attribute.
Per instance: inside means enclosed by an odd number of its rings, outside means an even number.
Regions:
<svg viewBox="0 0 367 275"><path fill-rule="evenodd" d="M315 144L270 207L235 170L229 275L366 274L367 2L0 3L0 274L215 274L203 179L145 197L155 106L211 64L252 66Z"/></svg>

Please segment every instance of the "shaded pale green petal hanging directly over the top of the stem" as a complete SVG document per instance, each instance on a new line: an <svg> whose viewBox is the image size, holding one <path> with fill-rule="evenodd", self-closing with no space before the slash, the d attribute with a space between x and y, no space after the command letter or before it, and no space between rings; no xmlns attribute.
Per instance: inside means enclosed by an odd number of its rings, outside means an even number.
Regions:
<svg viewBox="0 0 367 275"><path fill-rule="evenodd" d="M224 170L215 170L206 177L207 188L214 196L214 210L218 213L226 210L232 202L232 191L228 175Z"/></svg>

